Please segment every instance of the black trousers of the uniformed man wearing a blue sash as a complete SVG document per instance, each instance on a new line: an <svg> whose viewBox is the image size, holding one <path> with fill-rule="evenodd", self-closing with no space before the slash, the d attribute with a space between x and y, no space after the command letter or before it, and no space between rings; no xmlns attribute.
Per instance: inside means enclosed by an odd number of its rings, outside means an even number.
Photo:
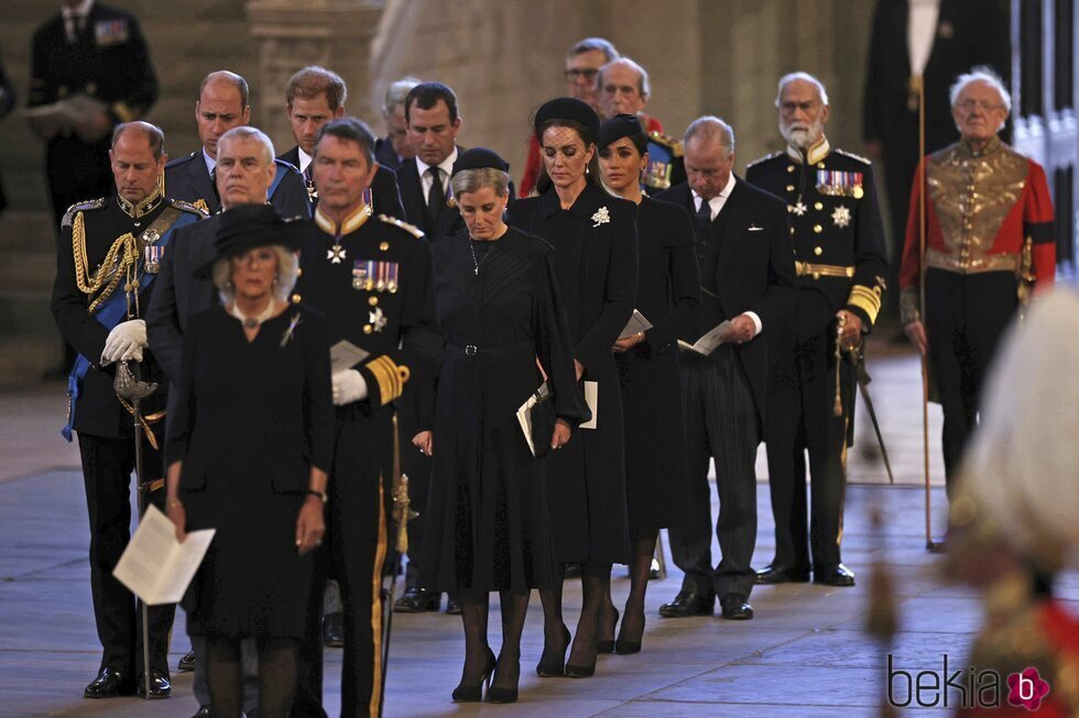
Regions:
<svg viewBox="0 0 1079 718"><path fill-rule="evenodd" d="M94 618L103 650L100 667L111 667L132 678L142 673L142 618L135 597L112 577L112 570L131 539L131 473L134 471L134 441L78 434L86 486L86 509L90 519L90 590ZM160 454L143 454L143 473L157 478ZM154 491L151 501L164 511L165 491ZM150 666L168 675L168 632L175 605L150 607Z"/></svg>

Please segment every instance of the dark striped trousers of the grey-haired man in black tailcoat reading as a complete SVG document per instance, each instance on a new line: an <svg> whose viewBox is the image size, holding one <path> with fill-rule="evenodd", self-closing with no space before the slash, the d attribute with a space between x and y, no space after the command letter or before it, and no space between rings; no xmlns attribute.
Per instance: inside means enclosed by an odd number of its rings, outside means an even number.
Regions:
<svg viewBox="0 0 1079 718"><path fill-rule="evenodd" d="M686 576L682 587L701 596L750 595L756 545L756 446L761 441L753 395L730 345L708 358L683 356L682 397L688 450L688 516L669 529L671 554ZM722 559L711 559L708 460L716 460Z"/></svg>

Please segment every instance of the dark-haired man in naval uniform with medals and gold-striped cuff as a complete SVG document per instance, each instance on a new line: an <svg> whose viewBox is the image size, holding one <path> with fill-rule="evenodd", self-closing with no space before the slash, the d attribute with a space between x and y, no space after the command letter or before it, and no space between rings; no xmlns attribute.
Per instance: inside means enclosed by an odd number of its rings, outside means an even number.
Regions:
<svg viewBox="0 0 1079 718"><path fill-rule="evenodd" d="M345 608L341 715L379 715L382 564L393 476L393 402L433 380L439 339L430 255L423 233L374 216L363 194L375 172L374 136L353 118L319 130L312 161L318 207L301 250L301 300L323 312L330 343L367 352L333 375L337 440L327 530L316 554L309 628L294 716L325 716L319 630L323 584L333 570Z"/></svg>

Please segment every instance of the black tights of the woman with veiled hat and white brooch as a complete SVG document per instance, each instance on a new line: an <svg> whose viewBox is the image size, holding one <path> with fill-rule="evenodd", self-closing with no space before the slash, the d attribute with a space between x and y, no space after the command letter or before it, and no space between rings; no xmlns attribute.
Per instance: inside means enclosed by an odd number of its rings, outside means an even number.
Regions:
<svg viewBox="0 0 1079 718"><path fill-rule="evenodd" d="M555 585L540 592L543 603L543 641L544 653L559 653L554 647L565 647L562 614L562 590L565 582L565 567L555 576ZM599 638L599 616L604 597L611 593L611 564L581 562L580 584L582 601L580 618L577 620L577 631L574 634L574 648L566 663L568 665L589 666L596 663L596 641ZM547 658L546 655L544 656Z"/></svg>

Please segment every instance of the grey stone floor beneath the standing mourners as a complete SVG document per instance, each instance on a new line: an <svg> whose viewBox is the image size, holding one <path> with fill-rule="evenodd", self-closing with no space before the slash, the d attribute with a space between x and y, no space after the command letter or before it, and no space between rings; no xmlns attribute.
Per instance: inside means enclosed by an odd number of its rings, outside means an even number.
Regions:
<svg viewBox="0 0 1079 718"><path fill-rule="evenodd" d="M886 347L885 347L886 349ZM601 656L590 680L542 680L532 671L542 650L538 600L525 627L521 699L515 705L455 705L449 694L460 677L459 619L442 614L397 616L388 673L386 716L855 716L878 715L887 689L887 655L896 669L941 672L962 664L978 626L979 600L936 575L925 551L920 405L917 363L903 352L881 351L871 365L874 399L884 422L900 486L886 484L876 452L860 449L872 434L859 432L851 457L843 557L859 577L854 588L813 585L760 587L752 596L756 618L660 619L656 609L678 589L671 565L649 589L644 651ZM174 673L174 696L153 705L137 698L91 702L80 697L99 654L90 609L85 518L77 452L56 438L63 418L58 387L31 387L0 395L0 715L3 716L190 716L192 676ZM934 420L938 419L934 417ZM869 429L869 427L864 427ZM938 435L938 426L933 435ZM871 445L871 444L869 444ZM935 446L935 444L934 444ZM934 455L939 449L934 448ZM761 465L761 476L766 467ZM940 468L934 464L939 482ZM858 483L854 483L858 482ZM715 500L715 494L713 494ZM933 489L935 527L944 523L944 493ZM755 564L774 548L767 485L759 485L760 533ZM884 528L870 528L880 510ZM881 645L862 631L870 600L871 566L886 561L900 631ZM615 603L629 581L615 570ZM1068 575L1062 595L1079 610L1079 576ZM567 623L580 608L579 585L567 583ZM495 606L492 612L497 614ZM492 645L499 644L491 617ZM177 616L171 662L187 639ZM340 651L327 651L326 704L338 710ZM896 695L903 699L905 696Z"/></svg>

